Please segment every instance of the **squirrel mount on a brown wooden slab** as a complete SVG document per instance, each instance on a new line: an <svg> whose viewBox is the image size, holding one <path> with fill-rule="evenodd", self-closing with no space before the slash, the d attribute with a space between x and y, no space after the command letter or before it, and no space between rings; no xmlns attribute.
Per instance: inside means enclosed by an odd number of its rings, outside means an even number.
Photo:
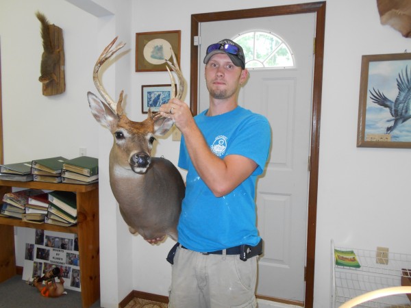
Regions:
<svg viewBox="0 0 411 308"><path fill-rule="evenodd" d="M64 44L63 31L56 25L51 25L46 16L36 12L41 25L43 53L40 64L42 94L45 96L62 94L66 90L64 76Z"/></svg>

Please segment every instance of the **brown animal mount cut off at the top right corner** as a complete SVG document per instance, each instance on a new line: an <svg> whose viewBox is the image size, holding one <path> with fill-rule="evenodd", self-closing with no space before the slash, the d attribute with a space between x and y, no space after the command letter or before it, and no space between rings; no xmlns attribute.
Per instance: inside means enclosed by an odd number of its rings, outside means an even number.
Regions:
<svg viewBox="0 0 411 308"><path fill-rule="evenodd" d="M411 38L411 1L377 0L382 25L390 25L404 38Z"/></svg>

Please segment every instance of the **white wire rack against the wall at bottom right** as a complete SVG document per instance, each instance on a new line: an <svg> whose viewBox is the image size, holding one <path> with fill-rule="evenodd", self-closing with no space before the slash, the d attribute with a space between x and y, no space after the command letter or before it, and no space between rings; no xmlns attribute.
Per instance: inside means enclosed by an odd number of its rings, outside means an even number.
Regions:
<svg viewBox="0 0 411 308"><path fill-rule="evenodd" d="M411 277L411 255L388 253L385 264L377 263L377 251L334 246L332 242L332 307L339 307L347 300L366 292L401 285L401 276ZM334 248L354 251L360 268L337 266ZM406 294L387 296L364 303L358 307L411 307Z"/></svg>

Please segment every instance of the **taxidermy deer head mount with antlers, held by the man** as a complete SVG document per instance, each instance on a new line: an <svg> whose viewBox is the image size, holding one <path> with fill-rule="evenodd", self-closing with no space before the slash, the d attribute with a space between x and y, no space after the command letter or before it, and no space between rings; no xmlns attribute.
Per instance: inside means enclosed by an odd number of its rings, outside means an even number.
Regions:
<svg viewBox="0 0 411 308"><path fill-rule="evenodd" d="M177 240L177 222L185 194L184 181L169 160L151 157L154 136L164 135L174 123L169 118L153 116L151 111L142 122L129 120L121 107L123 91L118 102L105 92L99 81L99 68L125 45L119 44L112 49L116 40L114 38L105 47L93 71L95 86L105 103L95 94L87 94L92 115L110 130L114 138L109 162L110 186L131 233L138 232L146 240L162 239L166 234ZM175 79L169 70L172 97L180 99L184 78L173 52L172 55L174 64L166 62L179 81L176 94Z"/></svg>

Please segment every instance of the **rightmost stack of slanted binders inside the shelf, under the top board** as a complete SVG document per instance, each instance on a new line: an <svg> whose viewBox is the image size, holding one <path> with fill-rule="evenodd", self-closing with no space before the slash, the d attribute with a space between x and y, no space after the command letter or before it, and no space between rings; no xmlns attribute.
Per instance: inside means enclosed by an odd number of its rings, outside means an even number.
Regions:
<svg viewBox="0 0 411 308"><path fill-rule="evenodd" d="M49 209L45 223L71 226L77 223L77 195L75 192L49 192Z"/></svg>

